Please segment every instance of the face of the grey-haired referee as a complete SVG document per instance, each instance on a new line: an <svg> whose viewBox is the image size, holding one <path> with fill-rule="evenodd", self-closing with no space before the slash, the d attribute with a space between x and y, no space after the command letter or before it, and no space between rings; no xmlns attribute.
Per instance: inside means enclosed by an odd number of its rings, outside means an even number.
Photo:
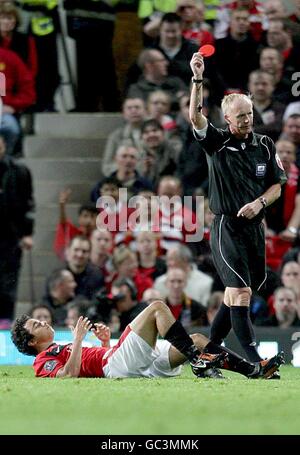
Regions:
<svg viewBox="0 0 300 455"><path fill-rule="evenodd" d="M253 127L252 103L246 100L235 101L225 114L225 119L232 134L238 138L246 138Z"/></svg>

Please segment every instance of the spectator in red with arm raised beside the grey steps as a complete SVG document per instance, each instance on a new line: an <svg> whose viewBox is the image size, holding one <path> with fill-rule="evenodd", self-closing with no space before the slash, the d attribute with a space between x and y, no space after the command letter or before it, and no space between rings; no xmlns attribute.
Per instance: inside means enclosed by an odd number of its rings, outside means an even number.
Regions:
<svg viewBox="0 0 300 455"><path fill-rule="evenodd" d="M56 226L54 251L61 260L65 260L65 249L76 235L90 237L96 227L98 210L92 205L82 205L78 210L78 226L75 226L67 217L66 204L71 190L62 190L59 194L59 221Z"/></svg>

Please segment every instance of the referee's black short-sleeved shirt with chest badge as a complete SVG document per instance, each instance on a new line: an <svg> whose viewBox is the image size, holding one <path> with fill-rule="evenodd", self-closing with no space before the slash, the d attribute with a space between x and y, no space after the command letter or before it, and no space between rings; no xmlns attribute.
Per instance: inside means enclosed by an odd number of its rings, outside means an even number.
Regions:
<svg viewBox="0 0 300 455"><path fill-rule="evenodd" d="M270 186L286 182L275 145L268 136L251 133L237 139L229 129L208 124L204 138L195 131L206 153L209 169L209 205L215 215L236 217L241 207ZM254 220L263 217L263 211Z"/></svg>

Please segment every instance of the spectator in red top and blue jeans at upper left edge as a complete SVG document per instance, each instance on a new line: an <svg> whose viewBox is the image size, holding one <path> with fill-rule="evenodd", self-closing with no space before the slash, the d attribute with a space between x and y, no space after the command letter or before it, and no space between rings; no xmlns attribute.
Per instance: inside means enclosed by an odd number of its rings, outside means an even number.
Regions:
<svg viewBox="0 0 300 455"><path fill-rule="evenodd" d="M5 139L8 155L13 155L21 137L19 116L35 103L33 77L20 57L8 49L0 48L0 68L5 77L0 134Z"/></svg>

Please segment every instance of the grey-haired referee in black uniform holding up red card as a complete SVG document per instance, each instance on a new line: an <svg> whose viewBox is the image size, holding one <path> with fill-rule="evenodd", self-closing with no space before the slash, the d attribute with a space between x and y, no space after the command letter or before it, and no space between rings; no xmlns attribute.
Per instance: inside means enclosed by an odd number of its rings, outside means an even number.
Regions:
<svg viewBox="0 0 300 455"><path fill-rule="evenodd" d="M231 327L246 356L260 360L249 316L251 288L266 280L264 209L279 198L286 176L268 136L253 133L253 106L247 95L222 101L228 129L215 128L202 115L203 57L191 60L190 119L209 168L209 202L215 219L211 249L225 286L225 297L211 327L211 340L221 343Z"/></svg>

